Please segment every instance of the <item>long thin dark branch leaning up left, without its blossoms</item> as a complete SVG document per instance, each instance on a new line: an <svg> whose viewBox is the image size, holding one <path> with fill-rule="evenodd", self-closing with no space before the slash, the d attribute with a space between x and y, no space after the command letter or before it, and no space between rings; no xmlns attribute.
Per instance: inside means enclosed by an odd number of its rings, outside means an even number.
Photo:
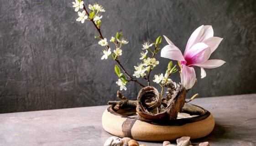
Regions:
<svg viewBox="0 0 256 146"><path fill-rule="evenodd" d="M86 10L85 5L84 5L84 10L85 10L85 12L86 12L86 15L89 17L90 14L89 14L88 11ZM102 34L101 34L100 28L98 28L97 25L94 23L94 19L92 18L92 19L90 19L90 21L93 23L94 27L95 27L96 30L98 31L99 37L100 37L101 39L104 39L104 37L103 37ZM107 47L108 49L110 48L109 45L106 45L106 47ZM111 51L111 53L113 53L113 52ZM134 81L135 83L139 84L140 86L145 87L145 85L143 85L141 82L137 81L137 80L134 79L131 75L128 74L128 72L125 70L125 68L123 67L123 65L121 65L121 63L120 63L120 61L119 61L118 59L115 59L115 61L117 62L117 64L119 65L119 67L124 71L125 75L130 78L131 81Z"/></svg>

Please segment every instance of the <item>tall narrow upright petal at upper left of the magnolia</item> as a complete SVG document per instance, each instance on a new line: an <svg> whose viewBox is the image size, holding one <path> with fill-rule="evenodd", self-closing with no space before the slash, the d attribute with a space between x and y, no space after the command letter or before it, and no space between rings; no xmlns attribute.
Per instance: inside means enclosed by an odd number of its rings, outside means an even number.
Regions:
<svg viewBox="0 0 256 146"><path fill-rule="evenodd" d="M201 25L199 28L197 28L192 35L190 36L190 38L188 39L188 43L184 52L184 55L187 53L187 51L196 43L198 43L198 41L200 40L201 36L204 33L204 25Z"/></svg>

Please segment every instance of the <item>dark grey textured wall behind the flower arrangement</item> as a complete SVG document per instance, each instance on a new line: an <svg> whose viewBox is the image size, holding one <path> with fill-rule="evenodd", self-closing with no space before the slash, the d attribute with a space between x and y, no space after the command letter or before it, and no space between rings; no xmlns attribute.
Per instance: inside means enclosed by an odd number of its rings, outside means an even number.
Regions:
<svg viewBox="0 0 256 146"><path fill-rule="evenodd" d="M97 32L76 21L73 0L0 1L0 113L104 105L118 87L113 60L100 60ZM86 4L94 1L86 0ZM167 35L184 51L193 30L213 25L223 37L211 59L227 63L206 69L188 94L223 96L256 93L255 0L98 0L106 12L102 33L122 31L129 40L121 62L132 73L145 40ZM167 43L163 40L163 45ZM163 72L168 59L158 56ZM173 76L179 81L178 74ZM136 98L139 86L125 95Z"/></svg>

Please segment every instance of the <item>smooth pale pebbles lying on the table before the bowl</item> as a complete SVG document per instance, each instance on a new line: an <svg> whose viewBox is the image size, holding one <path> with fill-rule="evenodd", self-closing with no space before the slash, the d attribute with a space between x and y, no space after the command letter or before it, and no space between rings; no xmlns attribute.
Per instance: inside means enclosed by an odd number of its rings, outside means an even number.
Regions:
<svg viewBox="0 0 256 146"><path fill-rule="evenodd" d="M190 141L190 137L183 136L181 138L178 138L176 140L177 145L171 144L170 141L163 141L162 146L192 146L192 143ZM119 138L116 136L111 136L109 139L107 139L104 143L104 146L146 146L146 145L139 145L139 143L135 140L132 140L129 137ZM210 146L209 142L203 142L200 143L199 146Z"/></svg>

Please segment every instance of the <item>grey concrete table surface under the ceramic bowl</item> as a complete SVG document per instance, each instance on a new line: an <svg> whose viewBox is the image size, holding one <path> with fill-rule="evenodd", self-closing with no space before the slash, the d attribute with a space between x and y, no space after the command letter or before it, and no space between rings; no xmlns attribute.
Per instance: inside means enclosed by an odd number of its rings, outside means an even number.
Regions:
<svg viewBox="0 0 256 146"><path fill-rule="evenodd" d="M193 146L256 146L256 94L198 98L191 102L210 111L213 132ZM0 114L0 146L103 146L111 135L101 126L108 106ZM174 143L174 142L172 142ZM162 142L140 142L162 146Z"/></svg>

